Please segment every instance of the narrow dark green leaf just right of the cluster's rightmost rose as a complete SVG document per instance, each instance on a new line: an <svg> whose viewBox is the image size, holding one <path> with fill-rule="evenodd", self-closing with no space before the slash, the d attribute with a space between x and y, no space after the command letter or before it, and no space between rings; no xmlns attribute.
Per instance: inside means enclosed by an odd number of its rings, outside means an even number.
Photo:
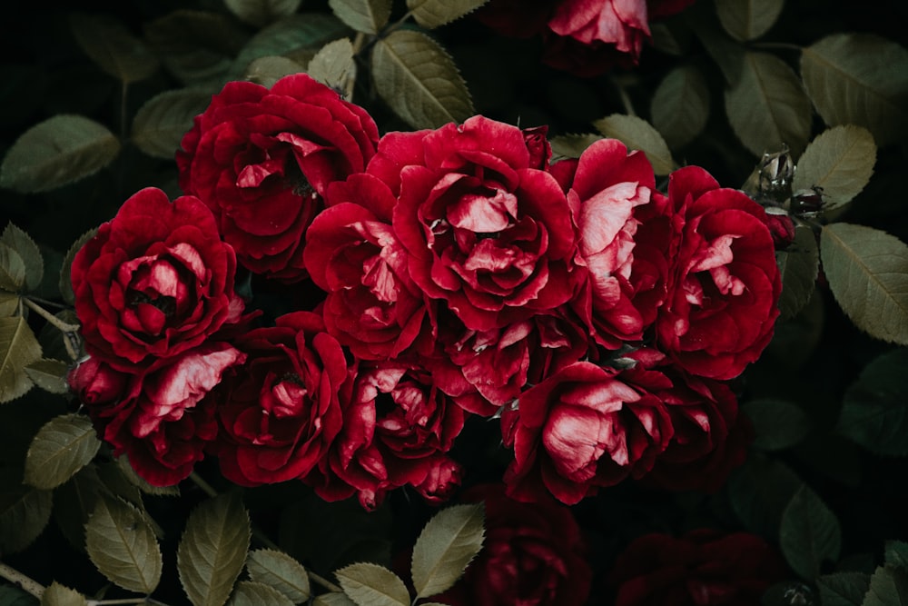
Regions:
<svg viewBox="0 0 908 606"><path fill-rule="evenodd" d="M795 240L784 251L776 251L775 263L782 274L780 317L788 320L804 309L816 288L820 251L816 247L814 231L803 225L795 227Z"/></svg>

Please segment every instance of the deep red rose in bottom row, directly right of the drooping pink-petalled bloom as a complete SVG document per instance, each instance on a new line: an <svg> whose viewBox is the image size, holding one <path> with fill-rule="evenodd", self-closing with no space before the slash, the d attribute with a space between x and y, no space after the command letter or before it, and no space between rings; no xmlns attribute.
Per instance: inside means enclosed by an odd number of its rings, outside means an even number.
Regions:
<svg viewBox="0 0 908 606"><path fill-rule="evenodd" d="M350 391L341 345L309 312L283 315L236 345L249 357L217 391L222 432L211 451L242 486L300 478L341 431Z"/></svg>

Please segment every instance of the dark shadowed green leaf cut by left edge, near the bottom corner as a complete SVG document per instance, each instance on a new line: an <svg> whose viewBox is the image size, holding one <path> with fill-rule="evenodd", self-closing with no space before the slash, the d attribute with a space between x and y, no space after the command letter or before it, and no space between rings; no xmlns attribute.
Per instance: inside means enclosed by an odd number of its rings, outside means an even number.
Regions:
<svg viewBox="0 0 908 606"><path fill-rule="evenodd" d="M54 493L27 486L0 491L0 553L22 551L50 522Z"/></svg>

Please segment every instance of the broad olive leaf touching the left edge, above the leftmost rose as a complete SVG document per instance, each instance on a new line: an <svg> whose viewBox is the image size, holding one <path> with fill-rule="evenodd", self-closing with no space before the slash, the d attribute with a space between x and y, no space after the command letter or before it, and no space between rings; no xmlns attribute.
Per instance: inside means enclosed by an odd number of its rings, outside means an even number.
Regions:
<svg viewBox="0 0 908 606"><path fill-rule="evenodd" d="M120 153L106 126L81 115L54 115L16 139L0 165L0 185L46 192L97 173Z"/></svg>

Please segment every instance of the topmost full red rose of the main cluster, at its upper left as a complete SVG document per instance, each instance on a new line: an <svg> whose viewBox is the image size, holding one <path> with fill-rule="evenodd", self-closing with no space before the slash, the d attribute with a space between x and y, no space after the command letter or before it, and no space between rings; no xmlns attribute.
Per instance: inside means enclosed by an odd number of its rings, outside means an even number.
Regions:
<svg viewBox="0 0 908 606"><path fill-rule="evenodd" d="M293 282L306 275L302 236L321 196L361 172L377 141L365 110L309 75L271 90L230 82L183 136L180 186L212 209L240 263Z"/></svg>

